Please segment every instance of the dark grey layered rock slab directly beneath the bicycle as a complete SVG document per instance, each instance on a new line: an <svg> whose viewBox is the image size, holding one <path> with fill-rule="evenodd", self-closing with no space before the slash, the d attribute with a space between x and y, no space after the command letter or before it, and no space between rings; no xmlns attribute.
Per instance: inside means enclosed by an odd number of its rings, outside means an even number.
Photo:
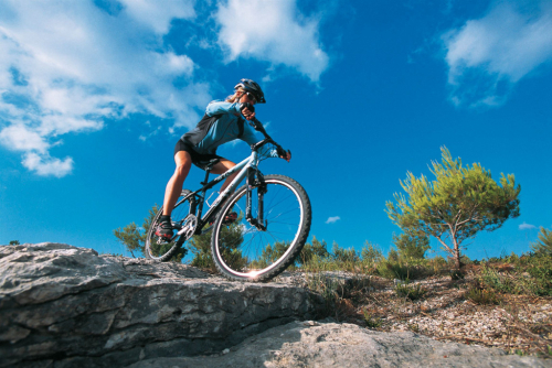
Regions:
<svg viewBox="0 0 552 368"><path fill-rule="evenodd" d="M0 367L120 367L220 353L320 313L320 296L61 243L0 247Z"/></svg>

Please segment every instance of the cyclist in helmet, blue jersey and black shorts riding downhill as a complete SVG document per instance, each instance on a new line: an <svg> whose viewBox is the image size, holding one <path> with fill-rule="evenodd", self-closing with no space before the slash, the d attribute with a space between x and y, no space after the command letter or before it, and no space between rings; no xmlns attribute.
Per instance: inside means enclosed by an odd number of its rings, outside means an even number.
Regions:
<svg viewBox="0 0 552 368"><path fill-rule="evenodd" d="M224 101L212 101L208 105L205 115L198 126L183 134L174 147L174 162L177 169L169 180L164 192L163 214L160 224L156 229L156 235L164 240L170 240L173 236L171 225L171 212L182 192L184 180L190 172L191 164L205 170L209 160L220 159L211 172L222 174L235 166L235 163L216 154L219 145L241 139L250 145L261 141L253 129L245 123L246 120L255 118L255 104L265 104L265 96L259 85L252 79L242 79L234 87L234 95L229 96ZM245 119L244 119L245 118ZM263 147L259 154L282 158L289 162L289 152L278 155L275 149ZM223 183L222 193L237 173L230 175ZM229 220L235 219L237 215L231 214Z"/></svg>

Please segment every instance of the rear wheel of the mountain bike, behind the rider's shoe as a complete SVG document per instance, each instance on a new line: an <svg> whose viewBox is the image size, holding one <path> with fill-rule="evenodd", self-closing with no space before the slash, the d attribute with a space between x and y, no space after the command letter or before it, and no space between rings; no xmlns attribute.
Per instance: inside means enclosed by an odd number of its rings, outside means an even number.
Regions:
<svg viewBox="0 0 552 368"><path fill-rule="evenodd" d="M182 190L181 197L171 213L172 224L182 223L183 219L190 214L190 209L193 208L193 196L188 197L188 195L192 193L188 190ZM159 237L156 235L156 228L159 225L159 218L163 214L163 207L161 207L151 225L149 227L148 234L146 236L146 246L144 249L146 258L152 259L159 262L166 262L171 259L172 256L182 247L184 239L182 237L178 237L173 239L171 242L162 242L159 243Z"/></svg>

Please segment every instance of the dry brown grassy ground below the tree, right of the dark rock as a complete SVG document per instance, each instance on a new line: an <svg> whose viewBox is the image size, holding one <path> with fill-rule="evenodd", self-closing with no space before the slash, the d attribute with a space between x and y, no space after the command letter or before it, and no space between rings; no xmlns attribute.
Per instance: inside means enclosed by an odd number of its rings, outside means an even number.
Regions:
<svg viewBox="0 0 552 368"><path fill-rule="evenodd" d="M502 269L508 272L509 268ZM310 289L326 294L328 314L341 322L382 332L412 331L439 340L551 358L552 297L481 289L474 271L461 280L435 275L407 284L423 291L414 300L397 292L401 283L396 280L358 273L340 273L336 279L336 272L306 278L310 278ZM482 300L474 300L473 290L479 291Z"/></svg>

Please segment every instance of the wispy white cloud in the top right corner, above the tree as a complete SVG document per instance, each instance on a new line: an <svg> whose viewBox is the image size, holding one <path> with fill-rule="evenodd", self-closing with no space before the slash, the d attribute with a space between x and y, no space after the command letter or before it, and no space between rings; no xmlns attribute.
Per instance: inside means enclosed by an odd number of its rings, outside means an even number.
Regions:
<svg viewBox="0 0 552 368"><path fill-rule="evenodd" d="M552 3L497 2L484 18L442 39L452 101L498 106L517 82L552 61Z"/></svg>

